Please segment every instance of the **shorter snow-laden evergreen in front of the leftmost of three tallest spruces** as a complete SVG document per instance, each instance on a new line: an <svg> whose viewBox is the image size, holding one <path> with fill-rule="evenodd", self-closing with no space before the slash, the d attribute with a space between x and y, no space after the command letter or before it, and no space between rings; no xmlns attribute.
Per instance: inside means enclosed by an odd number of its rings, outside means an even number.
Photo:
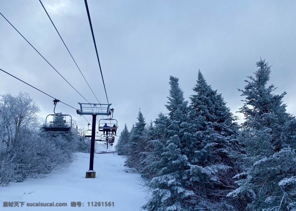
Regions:
<svg viewBox="0 0 296 211"><path fill-rule="evenodd" d="M188 168L186 155L181 154L178 135L170 137L161 155L159 172L149 183L152 197L142 208L146 210L192 210L188 197L192 191L184 187L184 169Z"/></svg>

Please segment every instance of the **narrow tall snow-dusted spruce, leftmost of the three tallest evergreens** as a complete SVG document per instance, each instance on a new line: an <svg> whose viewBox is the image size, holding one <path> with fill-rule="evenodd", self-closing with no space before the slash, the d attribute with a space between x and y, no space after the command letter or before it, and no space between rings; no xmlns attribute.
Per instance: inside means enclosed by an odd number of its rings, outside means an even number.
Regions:
<svg viewBox="0 0 296 211"><path fill-rule="evenodd" d="M146 210L192 210L187 199L192 195L192 191L186 189L186 169L189 169L188 158L182 154L182 142L191 141L183 139L184 129L189 113L187 101L184 100L183 91L179 87L178 78L170 76L170 96L168 97L169 118L160 118L156 124L156 134L165 134L160 140L154 140L155 158L160 158L151 163L150 169L157 172L148 186L152 189L152 197L142 208ZM160 126L164 131L157 129ZM183 130L183 131L182 131ZM161 140L162 139L162 140ZM166 141L164 143L164 141ZM153 169L153 167L155 169Z"/></svg>

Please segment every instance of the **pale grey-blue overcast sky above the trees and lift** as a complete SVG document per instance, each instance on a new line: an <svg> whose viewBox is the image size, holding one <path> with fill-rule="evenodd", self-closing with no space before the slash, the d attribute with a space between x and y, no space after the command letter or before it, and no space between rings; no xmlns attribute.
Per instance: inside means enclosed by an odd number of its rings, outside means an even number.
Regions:
<svg viewBox="0 0 296 211"><path fill-rule="evenodd" d="M42 3L96 97L107 103L84 1ZM167 113L170 75L188 99L198 69L238 111L244 97L237 88L246 85L260 57L272 65L275 93L286 91L287 111L296 114L296 1L88 0L88 6L119 131L125 123L131 129L139 108L147 122ZM0 12L83 97L98 103L38 0L0 0ZM70 106L87 103L2 16L0 68ZM0 94L20 91L38 103L42 121L53 113L52 98L0 71ZM75 109L58 103L57 111L87 127Z"/></svg>

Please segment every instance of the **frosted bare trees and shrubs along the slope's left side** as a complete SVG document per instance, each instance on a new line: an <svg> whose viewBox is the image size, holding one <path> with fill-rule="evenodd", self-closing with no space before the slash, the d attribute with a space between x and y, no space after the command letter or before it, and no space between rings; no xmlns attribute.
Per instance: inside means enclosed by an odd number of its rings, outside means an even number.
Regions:
<svg viewBox="0 0 296 211"><path fill-rule="evenodd" d="M0 95L0 186L48 176L72 162L75 151L90 152L90 143L75 121L69 132L46 132L39 106L28 93ZM49 126L65 127L62 116Z"/></svg>

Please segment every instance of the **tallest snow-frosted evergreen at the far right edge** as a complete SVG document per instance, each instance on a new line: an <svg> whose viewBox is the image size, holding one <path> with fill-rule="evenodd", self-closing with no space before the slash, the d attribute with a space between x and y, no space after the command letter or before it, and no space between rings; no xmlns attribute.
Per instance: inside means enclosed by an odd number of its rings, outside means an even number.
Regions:
<svg viewBox="0 0 296 211"><path fill-rule="evenodd" d="M271 69L265 60L258 61L255 77L245 80L246 96L240 113L244 114L243 144L239 154L242 172L236 175L239 188L229 196L245 197L246 210L296 210L296 122L286 112L281 95L273 94L274 85L267 87Z"/></svg>

